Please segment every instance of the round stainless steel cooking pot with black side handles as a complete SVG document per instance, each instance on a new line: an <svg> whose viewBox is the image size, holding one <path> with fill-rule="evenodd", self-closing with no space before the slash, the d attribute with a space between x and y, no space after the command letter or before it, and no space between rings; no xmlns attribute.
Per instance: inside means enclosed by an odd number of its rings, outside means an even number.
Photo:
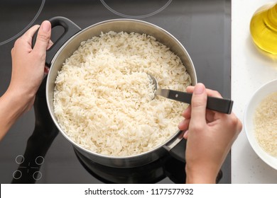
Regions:
<svg viewBox="0 0 277 198"><path fill-rule="evenodd" d="M146 165L158 160L158 158L161 158L161 156L168 153L175 158L178 158L180 161L185 161L185 140L183 139L183 132L181 131L175 132L175 134L164 144L153 148L151 151L140 153L135 156L104 156L102 154L89 151L86 148L82 148L82 146L76 144L72 141L72 139L70 139L70 137L67 136L55 117L53 107L55 79L58 76L58 71L60 71L63 66L65 59L70 57L72 53L80 47L80 43L82 41L88 40L94 36L99 36L101 33L107 33L110 30L113 30L114 32L124 31L127 33L134 32L152 35L153 37L156 37L159 42L163 43L163 45L170 47L170 50L180 57L188 71L188 74L190 74L192 85L195 85L197 82L195 68L187 50L185 50L185 47L183 47L183 45L181 45L181 43L167 31L157 25L153 25L145 21L134 19L113 19L96 23L83 30L78 27L78 25L64 17L54 17L49 21L52 24L52 28L55 26L62 26L65 32L59 37L53 46L50 47L46 54L46 64L50 66L46 83L47 105L55 125L58 127L61 134L63 134L63 136L65 136L65 138L77 149L77 151L96 163L115 168L131 168Z"/></svg>

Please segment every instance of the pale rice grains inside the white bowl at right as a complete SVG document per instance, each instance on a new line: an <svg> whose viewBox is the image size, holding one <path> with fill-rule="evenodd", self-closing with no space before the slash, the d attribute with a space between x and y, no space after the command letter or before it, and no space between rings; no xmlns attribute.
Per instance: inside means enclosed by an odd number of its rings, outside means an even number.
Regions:
<svg viewBox="0 0 277 198"><path fill-rule="evenodd" d="M256 109L254 125L261 148L277 157L277 92L261 101Z"/></svg>

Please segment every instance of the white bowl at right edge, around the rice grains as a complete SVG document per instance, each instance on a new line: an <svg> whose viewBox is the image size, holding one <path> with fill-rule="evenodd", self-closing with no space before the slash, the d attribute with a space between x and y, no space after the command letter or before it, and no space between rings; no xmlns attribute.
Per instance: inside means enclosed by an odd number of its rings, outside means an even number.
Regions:
<svg viewBox="0 0 277 198"><path fill-rule="evenodd" d="M254 115L256 108L261 103L261 100L266 98L270 93L277 91L277 79L266 83L264 86L261 86L254 95L251 97L249 104L246 107L246 112L244 115L244 129L246 136L249 140L250 145L256 152L256 154L263 160L265 163L270 165L272 168L277 170L277 158L266 153L266 151L261 148L259 142L256 139L254 131Z"/></svg>

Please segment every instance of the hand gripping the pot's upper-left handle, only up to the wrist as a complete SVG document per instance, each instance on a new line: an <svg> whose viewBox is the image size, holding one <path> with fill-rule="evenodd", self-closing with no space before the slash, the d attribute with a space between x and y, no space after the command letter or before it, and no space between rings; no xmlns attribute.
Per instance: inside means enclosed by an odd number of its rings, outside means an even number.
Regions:
<svg viewBox="0 0 277 198"><path fill-rule="evenodd" d="M36 30L38 36L32 49L32 38ZM32 107L36 91L43 80L46 50L52 45L50 35L51 24L43 21L41 26L34 25L18 38L11 50L12 73L8 91L21 94L28 100L26 110Z"/></svg>

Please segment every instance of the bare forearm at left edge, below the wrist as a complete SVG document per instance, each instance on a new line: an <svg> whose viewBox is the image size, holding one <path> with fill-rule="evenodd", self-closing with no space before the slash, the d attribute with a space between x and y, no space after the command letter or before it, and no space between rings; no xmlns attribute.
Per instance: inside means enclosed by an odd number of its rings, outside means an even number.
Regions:
<svg viewBox="0 0 277 198"><path fill-rule="evenodd" d="M16 91L6 91L0 98L0 140L9 131L18 117L30 108L31 95Z"/></svg>

